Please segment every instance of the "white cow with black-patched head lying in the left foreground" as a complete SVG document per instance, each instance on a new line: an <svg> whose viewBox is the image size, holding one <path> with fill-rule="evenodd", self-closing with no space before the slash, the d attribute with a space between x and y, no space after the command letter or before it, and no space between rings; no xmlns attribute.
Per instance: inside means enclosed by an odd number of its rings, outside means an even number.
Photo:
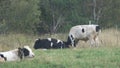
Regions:
<svg viewBox="0 0 120 68"><path fill-rule="evenodd" d="M29 46L24 46L23 48L18 48L6 52L0 52L0 59L3 59L3 61L16 61L26 57L34 57L34 53Z"/></svg>

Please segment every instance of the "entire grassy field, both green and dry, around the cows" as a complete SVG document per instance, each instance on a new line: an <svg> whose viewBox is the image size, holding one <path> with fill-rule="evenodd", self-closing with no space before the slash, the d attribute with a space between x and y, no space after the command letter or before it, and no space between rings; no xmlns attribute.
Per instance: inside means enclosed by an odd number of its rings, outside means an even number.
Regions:
<svg viewBox="0 0 120 68"><path fill-rule="evenodd" d="M32 36L24 34L0 35L0 51L24 45L33 47L36 38L54 37L67 39L67 34ZM120 68L120 32L115 29L102 31L99 47L81 42L76 48L32 50L34 58L0 63L0 68Z"/></svg>

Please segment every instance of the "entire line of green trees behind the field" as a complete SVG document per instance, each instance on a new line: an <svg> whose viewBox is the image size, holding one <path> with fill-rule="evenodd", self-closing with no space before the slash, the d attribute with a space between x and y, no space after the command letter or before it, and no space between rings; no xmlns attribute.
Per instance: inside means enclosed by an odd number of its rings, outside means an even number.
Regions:
<svg viewBox="0 0 120 68"><path fill-rule="evenodd" d="M0 33L68 32L74 25L120 27L120 0L0 0Z"/></svg>

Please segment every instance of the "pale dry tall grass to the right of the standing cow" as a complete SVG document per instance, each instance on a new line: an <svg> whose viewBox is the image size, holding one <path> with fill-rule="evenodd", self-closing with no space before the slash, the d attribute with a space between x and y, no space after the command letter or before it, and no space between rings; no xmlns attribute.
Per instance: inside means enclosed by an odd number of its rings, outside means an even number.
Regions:
<svg viewBox="0 0 120 68"><path fill-rule="evenodd" d="M105 46L119 46L120 45L120 31L116 29L104 30L100 35L101 40Z"/></svg>

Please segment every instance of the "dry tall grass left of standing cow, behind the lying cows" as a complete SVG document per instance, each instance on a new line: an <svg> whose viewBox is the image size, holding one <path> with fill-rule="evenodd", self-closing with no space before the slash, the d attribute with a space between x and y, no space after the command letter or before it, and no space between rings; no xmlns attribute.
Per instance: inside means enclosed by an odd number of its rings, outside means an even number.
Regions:
<svg viewBox="0 0 120 68"><path fill-rule="evenodd" d="M25 45L33 47L36 39L40 38L56 38L61 40L67 40L67 34L44 34L44 35L26 35L26 34L8 34L0 35L0 51L10 50Z"/></svg>

